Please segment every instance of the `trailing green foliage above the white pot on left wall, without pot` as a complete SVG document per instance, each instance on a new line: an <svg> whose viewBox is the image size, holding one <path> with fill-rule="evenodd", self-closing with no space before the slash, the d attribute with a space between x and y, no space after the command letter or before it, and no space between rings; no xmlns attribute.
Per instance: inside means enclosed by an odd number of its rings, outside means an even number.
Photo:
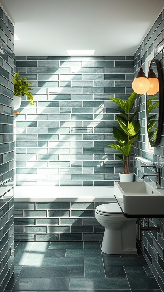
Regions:
<svg viewBox="0 0 164 292"><path fill-rule="evenodd" d="M32 85L31 82L27 82L27 77L19 78L19 71L14 74L14 96L27 95L30 100L30 105L34 105L34 98L29 90L33 90L29 87Z"/></svg>

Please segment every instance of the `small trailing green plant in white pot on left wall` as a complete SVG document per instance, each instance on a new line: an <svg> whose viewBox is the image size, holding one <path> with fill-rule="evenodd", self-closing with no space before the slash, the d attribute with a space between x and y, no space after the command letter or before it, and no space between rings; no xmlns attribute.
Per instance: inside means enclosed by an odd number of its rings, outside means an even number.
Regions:
<svg viewBox="0 0 164 292"><path fill-rule="evenodd" d="M34 98L30 92L33 89L29 87L32 83L26 81L27 77L19 77L20 75L18 71L14 74L14 110L20 107L23 95L27 95L30 100L30 105L34 105Z"/></svg>

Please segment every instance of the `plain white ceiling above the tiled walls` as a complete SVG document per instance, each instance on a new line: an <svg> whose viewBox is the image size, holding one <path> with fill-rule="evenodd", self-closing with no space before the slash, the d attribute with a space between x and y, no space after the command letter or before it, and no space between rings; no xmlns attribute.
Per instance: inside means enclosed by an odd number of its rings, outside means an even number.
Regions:
<svg viewBox="0 0 164 292"><path fill-rule="evenodd" d="M14 23L16 56L133 56L163 10L163 0L0 0Z"/></svg>

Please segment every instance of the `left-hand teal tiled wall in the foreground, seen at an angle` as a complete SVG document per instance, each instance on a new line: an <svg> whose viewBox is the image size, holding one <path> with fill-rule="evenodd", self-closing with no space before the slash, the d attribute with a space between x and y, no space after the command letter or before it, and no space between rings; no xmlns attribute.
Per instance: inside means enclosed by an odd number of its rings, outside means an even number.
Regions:
<svg viewBox="0 0 164 292"><path fill-rule="evenodd" d="M13 24L0 7L0 291L14 271Z"/></svg>

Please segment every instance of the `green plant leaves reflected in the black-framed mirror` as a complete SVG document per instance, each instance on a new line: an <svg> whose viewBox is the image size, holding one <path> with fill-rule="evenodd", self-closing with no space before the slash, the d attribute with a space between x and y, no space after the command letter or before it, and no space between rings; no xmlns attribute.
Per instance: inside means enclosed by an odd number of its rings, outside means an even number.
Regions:
<svg viewBox="0 0 164 292"><path fill-rule="evenodd" d="M156 137L157 137L158 128L157 128L157 121L155 120L157 117L157 114L154 114L152 116L149 116L149 114L151 114L151 112L156 107L159 106L158 101L152 103L152 101L155 100L156 98L158 98L158 95L147 99L147 125L148 125L149 139L151 140L152 143L155 143Z"/></svg>

